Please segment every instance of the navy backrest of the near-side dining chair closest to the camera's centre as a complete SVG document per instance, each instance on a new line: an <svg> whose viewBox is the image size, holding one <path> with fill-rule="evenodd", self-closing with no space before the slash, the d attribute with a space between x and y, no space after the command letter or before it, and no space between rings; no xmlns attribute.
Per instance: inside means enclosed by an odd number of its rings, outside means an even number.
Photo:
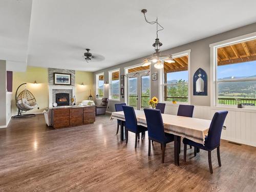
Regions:
<svg viewBox="0 0 256 192"><path fill-rule="evenodd" d="M144 108L148 137L160 143L164 142L163 119L160 110Z"/></svg>

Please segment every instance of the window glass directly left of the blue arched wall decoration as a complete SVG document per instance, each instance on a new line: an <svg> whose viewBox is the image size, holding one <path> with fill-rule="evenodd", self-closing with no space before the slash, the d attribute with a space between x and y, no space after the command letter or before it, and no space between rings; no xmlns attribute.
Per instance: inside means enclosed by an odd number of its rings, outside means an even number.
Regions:
<svg viewBox="0 0 256 192"><path fill-rule="evenodd" d="M173 58L174 63L163 61L163 100L188 103L188 53Z"/></svg>

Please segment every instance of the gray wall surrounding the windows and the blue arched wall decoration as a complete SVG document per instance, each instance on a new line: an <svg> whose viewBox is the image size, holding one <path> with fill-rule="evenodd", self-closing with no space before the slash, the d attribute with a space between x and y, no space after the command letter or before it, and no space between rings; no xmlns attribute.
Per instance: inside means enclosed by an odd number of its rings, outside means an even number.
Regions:
<svg viewBox="0 0 256 192"><path fill-rule="evenodd" d="M238 37L241 35L249 34L256 31L256 23L247 25L238 29L234 29L231 31L227 31L224 33L220 33L218 35L210 36L204 39L200 39L194 42L190 42L188 44L168 49L165 51L162 51L162 55L168 55L168 54L175 54L178 52L182 52L185 50L191 50L190 53L190 101L193 105L201 105L201 106L210 106L210 48L209 45L215 42L219 42L222 40L230 39L233 37ZM152 37L153 38L153 37ZM170 37L171 38L171 37ZM161 39L161 37L160 37ZM164 44L164 42L163 42ZM154 51L154 48L152 47L152 52ZM104 72L104 80L109 81L109 73L108 71L120 68L120 75L124 74L124 68L136 65L138 63L143 62L143 58L147 57L147 55L142 55L141 58L131 60L129 62L121 63L120 65L116 65L104 70L100 70L94 73L94 86L95 86L95 75L97 73ZM197 71L198 68L202 68L208 76L208 95L207 96L194 96L193 95L193 75ZM154 67L151 68L151 73L158 73L158 70ZM105 87L107 88L107 87ZM159 82L157 81L151 81L151 96L157 96L159 97ZM96 95L96 94L95 94ZM108 97L108 90L105 89L105 97ZM120 102L124 102L124 99L121 99ZM117 103L116 101L110 101L110 108L108 111L115 111L114 109L114 103Z"/></svg>

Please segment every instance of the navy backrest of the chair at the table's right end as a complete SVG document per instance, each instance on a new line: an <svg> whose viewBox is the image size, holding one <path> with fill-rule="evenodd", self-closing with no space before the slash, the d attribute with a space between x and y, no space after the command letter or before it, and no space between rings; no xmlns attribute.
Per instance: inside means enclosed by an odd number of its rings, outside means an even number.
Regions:
<svg viewBox="0 0 256 192"><path fill-rule="evenodd" d="M227 116L227 111L220 111L214 114L211 120L205 146L209 149L220 145L222 127Z"/></svg>

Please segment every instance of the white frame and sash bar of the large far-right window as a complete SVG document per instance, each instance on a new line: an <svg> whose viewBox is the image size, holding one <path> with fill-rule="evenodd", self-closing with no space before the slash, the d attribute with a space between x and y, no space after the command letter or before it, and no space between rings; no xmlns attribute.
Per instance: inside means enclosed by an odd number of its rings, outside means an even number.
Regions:
<svg viewBox="0 0 256 192"><path fill-rule="evenodd" d="M245 42L249 40L256 39L256 32L249 33L246 35L226 39L223 41L216 42L214 44L210 44L210 106L212 108L237 108L236 105L230 105L230 104L218 104L218 83L220 82L241 82L241 81L252 81L256 80L256 78L249 78L249 79L228 79L228 80L218 80L217 79L217 67L218 67L218 61L217 61L217 49L225 46L230 46L234 44L238 44L240 42ZM243 108L240 108L238 110L243 109L252 109L256 110L256 106L248 106L244 105Z"/></svg>

